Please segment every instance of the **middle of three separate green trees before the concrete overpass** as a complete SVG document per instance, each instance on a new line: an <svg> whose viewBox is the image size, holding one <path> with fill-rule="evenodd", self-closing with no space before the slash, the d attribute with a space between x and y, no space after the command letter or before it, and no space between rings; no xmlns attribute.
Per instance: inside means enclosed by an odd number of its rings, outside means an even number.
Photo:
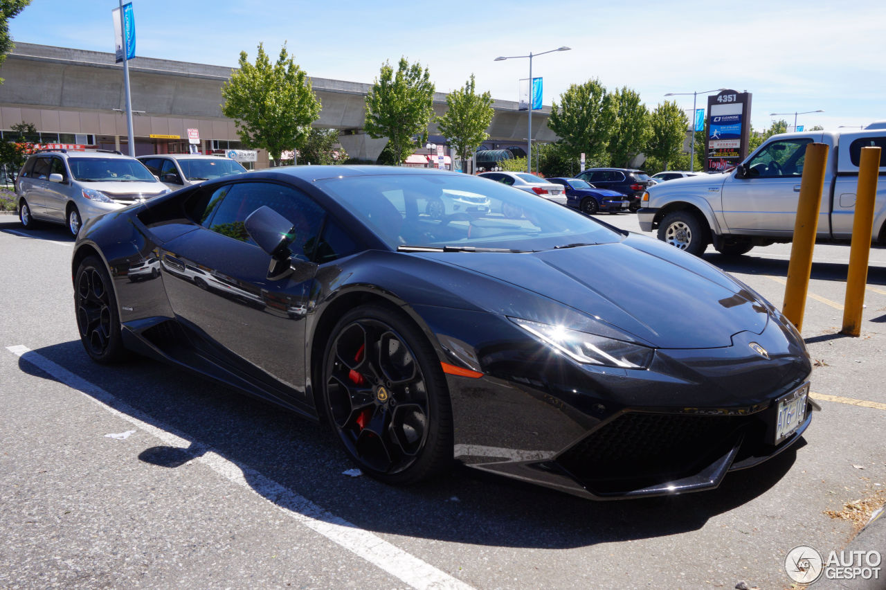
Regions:
<svg viewBox="0 0 886 590"><path fill-rule="evenodd" d="M374 139L388 138L385 149L400 164L424 143L433 116L434 84L427 68L409 65L400 58L396 74L387 61L366 95L366 133Z"/></svg>

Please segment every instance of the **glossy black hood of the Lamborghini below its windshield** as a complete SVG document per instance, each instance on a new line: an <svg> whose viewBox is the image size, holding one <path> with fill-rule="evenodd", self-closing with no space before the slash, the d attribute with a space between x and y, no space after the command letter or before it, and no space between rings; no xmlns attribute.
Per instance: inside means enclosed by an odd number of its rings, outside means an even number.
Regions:
<svg viewBox="0 0 886 590"><path fill-rule="evenodd" d="M647 237L532 253L432 258L554 299L658 348L715 348L766 328L768 311L741 283Z"/></svg>

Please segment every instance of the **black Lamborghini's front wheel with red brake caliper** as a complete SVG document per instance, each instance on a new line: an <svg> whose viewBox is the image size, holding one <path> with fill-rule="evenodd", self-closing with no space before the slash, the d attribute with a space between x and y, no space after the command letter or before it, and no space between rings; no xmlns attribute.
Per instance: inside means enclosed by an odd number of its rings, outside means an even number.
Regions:
<svg viewBox="0 0 886 590"><path fill-rule="evenodd" d="M424 335L400 312L356 307L323 358L324 410L360 469L388 484L433 477L452 460L446 378Z"/></svg>

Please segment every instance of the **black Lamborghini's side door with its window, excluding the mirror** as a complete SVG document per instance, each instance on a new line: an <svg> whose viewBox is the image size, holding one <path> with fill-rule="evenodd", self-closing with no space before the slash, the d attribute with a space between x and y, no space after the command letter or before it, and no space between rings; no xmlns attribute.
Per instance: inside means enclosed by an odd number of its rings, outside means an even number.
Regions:
<svg viewBox="0 0 886 590"><path fill-rule="evenodd" d="M323 209L288 185L231 182L198 191L198 229L160 249L164 285L175 314L214 353L261 383L284 385L304 401L305 314L316 265L306 248L317 243ZM190 202L190 201L189 201ZM271 261L245 230L245 219L269 206L292 221L295 271L268 279ZM285 400L284 400L285 401Z"/></svg>

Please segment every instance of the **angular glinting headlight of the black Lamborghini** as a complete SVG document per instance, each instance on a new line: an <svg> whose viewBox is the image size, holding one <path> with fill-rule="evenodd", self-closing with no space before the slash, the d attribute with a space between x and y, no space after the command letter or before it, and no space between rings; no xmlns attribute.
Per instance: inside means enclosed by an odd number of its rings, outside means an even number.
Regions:
<svg viewBox="0 0 886 590"><path fill-rule="evenodd" d="M647 346L570 330L563 326L552 326L548 323L530 322L516 317L508 319L540 342L565 354L573 361L620 369L646 369L652 362L653 350Z"/></svg>

